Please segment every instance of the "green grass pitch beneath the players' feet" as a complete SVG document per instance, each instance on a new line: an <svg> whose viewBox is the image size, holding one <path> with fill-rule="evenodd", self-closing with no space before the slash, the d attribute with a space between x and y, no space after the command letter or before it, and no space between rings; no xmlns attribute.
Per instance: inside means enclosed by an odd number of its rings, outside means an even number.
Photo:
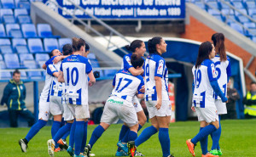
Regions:
<svg viewBox="0 0 256 157"><path fill-rule="evenodd" d="M143 129L150 126L147 123ZM88 140L91 132L96 126L88 127ZM92 149L92 153L96 157L114 156L117 149L119 131L121 125L112 125L107 132L97 141ZM191 157L186 139L194 137L199 131L198 121L185 121L172 123L169 127L171 137L171 153L175 157ZM47 140L50 138L50 127L44 127L38 135L36 135L28 144L27 153L21 153L18 140L26 136L29 128L3 128L0 129L0 156L3 157L48 157ZM140 131L139 133L141 133ZM208 149L211 148L212 141L209 137ZM256 157L256 120L236 120L222 121L222 136L220 139L220 147L223 151L223 157ZM148 157L162 156L160 143L158 141L158 133L151 137L146 143L137 148ZM201 156L200 143L195 147L197 157ZM62 151L55 153L55 157L69 156L67 152Z"/></svg>

